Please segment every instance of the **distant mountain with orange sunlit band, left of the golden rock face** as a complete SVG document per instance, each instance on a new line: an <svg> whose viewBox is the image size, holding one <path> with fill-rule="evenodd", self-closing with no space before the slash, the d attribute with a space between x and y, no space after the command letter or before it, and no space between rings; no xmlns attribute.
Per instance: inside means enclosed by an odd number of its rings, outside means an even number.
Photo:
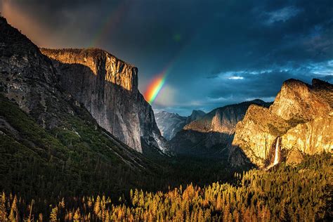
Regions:
<svg viewBox="0 0 333 222"><path fill-rule="evenodd" d="M249 105L269 106L263 100L218 107L200 119L190 122L171 139L171 150L182 155L213 155L224 152L231 141L237 122L243 119ZM224 151L223 151L224 150Z"/></svg>

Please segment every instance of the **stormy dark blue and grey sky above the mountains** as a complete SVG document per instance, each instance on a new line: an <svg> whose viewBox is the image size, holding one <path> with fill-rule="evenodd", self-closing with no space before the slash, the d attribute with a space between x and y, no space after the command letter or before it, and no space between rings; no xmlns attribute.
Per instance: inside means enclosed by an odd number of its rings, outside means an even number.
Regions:
<svg viewBox="0 0 333 222"><path fill-rule="evenodd" d="M0 11L37 46L103 48L135 65L142 93L167 72L155 112L273 101L290 78L333 81L332 0L0 0Z"/></svg>

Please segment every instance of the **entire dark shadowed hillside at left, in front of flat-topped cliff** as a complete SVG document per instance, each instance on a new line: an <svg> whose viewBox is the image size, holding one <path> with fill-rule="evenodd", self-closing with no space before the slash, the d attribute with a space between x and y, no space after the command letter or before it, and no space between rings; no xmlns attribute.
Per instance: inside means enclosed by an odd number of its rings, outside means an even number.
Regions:
<svg viewBox="0 0 333 222"><path fill-rule="evenodd" d="M41 200L82 192L120 196L159 178L159 166L100 127L58 74L53 61L0 16L1 190ZM123 82L127 89L135 83ZM143 113L143 122L152 118L149 107Z"/></svg>

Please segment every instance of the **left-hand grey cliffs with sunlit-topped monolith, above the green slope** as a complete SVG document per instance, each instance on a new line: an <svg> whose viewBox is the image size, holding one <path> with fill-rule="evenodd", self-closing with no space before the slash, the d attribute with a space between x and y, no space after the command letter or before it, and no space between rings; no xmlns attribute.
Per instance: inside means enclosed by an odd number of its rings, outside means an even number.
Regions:
<svg viewBox="0 0 333 222"><path fill-rule="evenodd" d="M166 150L152 107L138 91L138 70L99 49L39 49L0 20L0 91L46 128L53 112L74 113L65 100L86 107L97 123L141 152L141 139ZM42 53L48 55L43 55Z"/></svg>

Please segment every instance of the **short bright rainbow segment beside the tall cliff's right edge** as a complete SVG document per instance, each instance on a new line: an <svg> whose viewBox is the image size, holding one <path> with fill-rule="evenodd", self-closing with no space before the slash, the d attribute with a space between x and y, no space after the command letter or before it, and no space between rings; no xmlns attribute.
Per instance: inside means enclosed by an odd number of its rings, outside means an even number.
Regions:
<svg viewBox="0 0 333 222"><path fill-rule="evenodd" d="M169 74L170 69L165 69L160 74L157 74L157 76L150 81L150 84L148 84L147 89L145 90L145 93L143 93L143 96L145 97L145 100L148 101L149 104L152 104L157 97L159 91L162 89L165 79L167 75Z"/></svg>

